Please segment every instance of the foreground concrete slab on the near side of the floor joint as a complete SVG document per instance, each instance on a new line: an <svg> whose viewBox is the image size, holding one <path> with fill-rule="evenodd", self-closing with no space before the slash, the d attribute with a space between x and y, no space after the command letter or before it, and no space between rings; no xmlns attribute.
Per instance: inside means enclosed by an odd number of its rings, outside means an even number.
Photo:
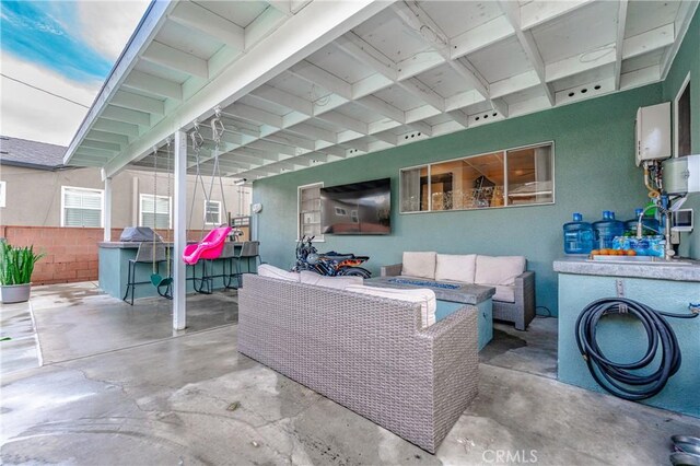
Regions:
<svg viewBox="0 0 700 466"><path fill-rule="evenodd" d="M700 435L696 418L514 369L479 370L477 399L430 455L238 354L236 325L226 324L3 375L0 459L651 465L668 464L672 434Z"/></svg>

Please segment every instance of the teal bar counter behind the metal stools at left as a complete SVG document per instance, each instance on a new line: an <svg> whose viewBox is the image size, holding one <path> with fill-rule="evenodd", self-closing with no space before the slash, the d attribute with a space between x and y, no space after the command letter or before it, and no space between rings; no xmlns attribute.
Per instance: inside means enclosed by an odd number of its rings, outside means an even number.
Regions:
<svg viewBox="0 0 700 466"><path fill-rule="evenodd" d="M122 299L124 293L127 289L128 283L128 270L129 270L129 259L136 258L136 253L139 249L139 242L103 242L98 243L98 280L100 288L107 294L114 298ZM173 243L166 242L164 243L168 248L172 248ZM235 243L237 246L241 243ZM175 254L171 255L171 260L182 260L180 257L176 257ZM223 264L226 259L214 259L208 266L208 273L213 276L220 276L223 273ZM194 280L192 277L200 278L202 276L202 265L203 260L200 260L195 266L187 266L187 292L194 292ZM171 272L172 272L171 266ZM212 270L213 269L213 270ZM226 270L231 270L231 267L228 267ZM243 270L245 271L245 265L243 265ZM137 284L135 289L135 299L138 298L148 298L148 296L156 296L158 291L154 286L150 284L151 273L153 273L153 266L151 263L139 263L137 264L136 270L136 281L137 282L149 282L144 284ZM163 261L160 264L159 273L162 277L167 277L167 266ZM223 279L221 277L213 278L213 289L223 288Z"/></svg>

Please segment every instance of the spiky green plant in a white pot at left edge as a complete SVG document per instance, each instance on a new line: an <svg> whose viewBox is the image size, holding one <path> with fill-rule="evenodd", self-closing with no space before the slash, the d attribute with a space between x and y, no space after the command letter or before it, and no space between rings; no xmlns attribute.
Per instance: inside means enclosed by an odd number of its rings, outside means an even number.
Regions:
<svg viewBox="0 0 700 466"><path fill-rule="evenodd" d="M45 254L34 253L34 246L14 247L0 241L0 301L21 303L30 300L32 272Z"/></svg>

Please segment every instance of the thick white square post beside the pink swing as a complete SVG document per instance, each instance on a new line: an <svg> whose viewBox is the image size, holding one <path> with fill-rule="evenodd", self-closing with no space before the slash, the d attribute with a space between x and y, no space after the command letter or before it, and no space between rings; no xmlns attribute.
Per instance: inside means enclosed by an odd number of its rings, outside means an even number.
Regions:
<svg viewBox="0 0 700 466"><path fill-rule="evenodd" d="M187 133L175 132L175 202L173 244L173 329L183 330L187 325L187 270L183 252L187 245Z"/></svg>

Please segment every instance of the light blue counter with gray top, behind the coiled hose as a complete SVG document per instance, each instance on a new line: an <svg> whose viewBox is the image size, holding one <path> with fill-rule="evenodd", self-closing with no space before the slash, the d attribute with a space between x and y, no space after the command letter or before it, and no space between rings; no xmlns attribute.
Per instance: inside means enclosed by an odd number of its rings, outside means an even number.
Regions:
<svg viewBox="0 0 700 466"><path fill-rule="evenodd" d="M556 260L553 269L559 272L558 377L591 391L605 392L591 375L575 340L576 318L591 302L627 298L675 314L690 314L690 303L700 303L700 261L598 261L582 256ZM700 317L665 318L676 334L682 362L666 387L642 403L700 417ZM648 346L641 322L619 314L602 318L596 340L606 357L623 363L639 360ZM642 371L650 373L657 366L658 356L651 370Z"/></svg>

